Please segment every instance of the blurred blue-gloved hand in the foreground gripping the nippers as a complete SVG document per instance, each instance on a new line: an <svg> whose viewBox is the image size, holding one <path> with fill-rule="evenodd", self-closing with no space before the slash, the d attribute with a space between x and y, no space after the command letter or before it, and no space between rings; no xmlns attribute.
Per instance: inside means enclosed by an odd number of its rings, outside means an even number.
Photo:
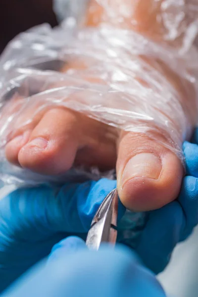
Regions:
<svg viewBox="0 0 198 297"><path fill-rule="evenodd" d="M126 247L89 251L69 238L1 297L165 297L154 275Z"/></svg>

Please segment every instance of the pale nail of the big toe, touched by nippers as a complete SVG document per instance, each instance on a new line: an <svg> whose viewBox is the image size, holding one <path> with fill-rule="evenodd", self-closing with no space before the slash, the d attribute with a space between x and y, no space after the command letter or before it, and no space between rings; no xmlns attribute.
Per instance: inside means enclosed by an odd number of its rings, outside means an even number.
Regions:
<svg viewBox="0 0 198 297"><path fill-rule="evenodd" d="M139 153L132 157L122 174L121 187L133 177L158 179L162 169L160 158L153 153Z"/></svg>

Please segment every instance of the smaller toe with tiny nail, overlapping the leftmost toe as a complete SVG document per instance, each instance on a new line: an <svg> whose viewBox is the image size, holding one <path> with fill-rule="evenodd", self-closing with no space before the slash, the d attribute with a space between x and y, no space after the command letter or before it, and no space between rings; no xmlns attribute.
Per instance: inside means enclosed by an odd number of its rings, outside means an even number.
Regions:
<svg viewBox="0 0 198 297"><path fill-rule="evenodd" d="M74 162L79 132L72 111L63 108L47 111L33 130L29 142L20 149L20 165L43 174L65 172Z"/></svg>

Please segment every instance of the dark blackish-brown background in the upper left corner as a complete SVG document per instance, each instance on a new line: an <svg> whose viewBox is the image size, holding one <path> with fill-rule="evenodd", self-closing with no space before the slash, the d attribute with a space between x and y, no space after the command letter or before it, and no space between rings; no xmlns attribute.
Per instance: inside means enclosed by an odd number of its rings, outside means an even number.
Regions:
<svg viewBox="0 0 198 297"><path fill-rule="evenodd" d="M0 0L0 53L17 34L46 22L57 25L52 0Z"/></svg>

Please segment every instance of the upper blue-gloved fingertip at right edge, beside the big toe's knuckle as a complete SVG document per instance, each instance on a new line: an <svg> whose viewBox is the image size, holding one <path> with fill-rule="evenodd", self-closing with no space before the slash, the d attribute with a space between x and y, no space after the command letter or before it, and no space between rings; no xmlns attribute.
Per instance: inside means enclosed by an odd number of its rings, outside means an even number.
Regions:
<svg viewBox="0 0 198 297"><path fill-rule="evenodd" d="M183 150L186 157L187 175L198 177L198 145L186 141L183 144Z"/></svg>

